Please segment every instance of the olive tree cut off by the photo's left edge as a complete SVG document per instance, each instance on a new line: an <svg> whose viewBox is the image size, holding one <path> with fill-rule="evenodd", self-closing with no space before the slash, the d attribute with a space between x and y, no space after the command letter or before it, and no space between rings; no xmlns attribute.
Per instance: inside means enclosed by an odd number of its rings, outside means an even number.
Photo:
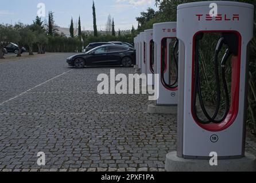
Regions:
<svg viewBox="0 0 256 183"><path fill-rule="evenodd" d="M3 59L3 49L9 45L10 42L18 42L20 34L11 25L0 25L0 59Z"/></svg>

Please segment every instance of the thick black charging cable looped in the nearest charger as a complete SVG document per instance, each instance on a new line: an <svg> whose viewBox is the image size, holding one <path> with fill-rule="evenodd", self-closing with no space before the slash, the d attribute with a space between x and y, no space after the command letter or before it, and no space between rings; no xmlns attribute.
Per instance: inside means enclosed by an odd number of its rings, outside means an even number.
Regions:
<svg viewBox="0 0 256 183"><path fill-rule="evenodd" d="M238 47L238 39L236 35L234 34L223 34L222 38L219 39L218 45L216 46L215 49L215 55L214 55L214 65L215 65L215 79L216 79L216 108L213 116L210 116L208 114L204 101L203 101L203 94L201 92L201 81L200 81L200 63L199 63L199 43L200 40L203 39L203 33L197 34L196 35L196 47L195 47L195 83L193 86L193 103L192 103L192 109L194 116L196 117L196 120L200 122L201 124L210 124L211 122L214 124L220 124L223 122L230 110L230 99L229 99L229 94L228 94L228 86L227 86L227 80L226 80L226 62L230 56L237 55L237 47ZM220 89L220 78L219 78L219 53L222 50L223 45L227 45L227 50L226 53L224 54L221 62L221 73L222 73L222 81L223 81L223 89L224 89L224 94L226 98L226 107L225 107L225 112L220 120L216 120L216 117L219 114L220 110L220 102L221 102L221 89ZM199 102L201 109L204 113L204 116L207 118L207 120L201 120L200 117L197 114L196 110L196 100L197 100L197 95L199 97Z"/></svg>

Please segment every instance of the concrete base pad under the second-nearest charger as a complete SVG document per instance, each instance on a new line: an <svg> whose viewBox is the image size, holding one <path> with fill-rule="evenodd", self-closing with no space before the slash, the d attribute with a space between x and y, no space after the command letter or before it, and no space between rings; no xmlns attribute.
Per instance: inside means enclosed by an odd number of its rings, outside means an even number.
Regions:
<svg viewBox="0 0 256 183"><path fill-rule="evenodd" d="M158 106L148 105L148 113L150 114L177 114L177 106Z"/></svg>

